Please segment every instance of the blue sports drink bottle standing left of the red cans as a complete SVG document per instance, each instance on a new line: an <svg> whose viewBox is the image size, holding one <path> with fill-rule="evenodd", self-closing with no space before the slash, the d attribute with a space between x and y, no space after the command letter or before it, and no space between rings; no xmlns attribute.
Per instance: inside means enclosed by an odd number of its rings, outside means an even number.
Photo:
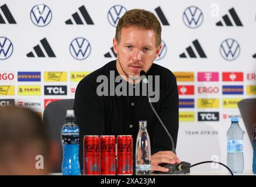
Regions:
<svg viewBox="0 0 256 187"><path fill-rule="evenodd" d="M67 110L65 124L61 129L63 175L80 175L79 164L79 127L75 124L74 110Z"/></svg>

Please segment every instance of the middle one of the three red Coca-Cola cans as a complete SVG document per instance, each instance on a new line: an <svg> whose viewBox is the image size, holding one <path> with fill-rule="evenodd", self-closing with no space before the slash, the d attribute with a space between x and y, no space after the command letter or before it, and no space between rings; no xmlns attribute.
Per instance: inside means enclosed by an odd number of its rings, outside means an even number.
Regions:
<svg viewBox="0 0 256 187"><path fill-rule="evenodd" d="M101 136L101 175L116 175L116 136Z"/></svg>

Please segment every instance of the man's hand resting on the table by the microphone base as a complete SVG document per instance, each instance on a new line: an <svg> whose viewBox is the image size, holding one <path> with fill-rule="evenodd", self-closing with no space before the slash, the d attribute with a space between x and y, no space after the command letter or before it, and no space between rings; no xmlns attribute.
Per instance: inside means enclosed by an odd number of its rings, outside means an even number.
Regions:
<svg viewBox="0 0 256 187"><path fill-rule="evenodd" d="M168 168L160 167L159 164L179 164L181 161L172 151L158 151L157 153L151 155L151 171L162 171L168 172Z"/></svg>

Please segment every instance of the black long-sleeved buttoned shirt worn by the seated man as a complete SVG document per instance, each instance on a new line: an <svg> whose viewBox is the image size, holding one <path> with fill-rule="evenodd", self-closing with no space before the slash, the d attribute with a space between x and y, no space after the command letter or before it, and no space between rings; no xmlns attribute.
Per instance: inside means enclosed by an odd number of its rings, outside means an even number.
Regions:
<svg viewBox="0 0 256 187"><path fill-rule="evenodd" d="M119 73L116 69L116 60L104 65L98 70L87 75L82 79L75 91L74 110L77 117L77 124L80 129L80 154L83 158L83 137L84 135L123 135L133 136L133 153L135 153L135 144L137 133L139 131L139 120L147 120L147 130L150 136L151 154L158 151L172 150L171 140L164 128L161 126L157 117L148 103L147 96L98 96L97 87L102 82L97 82L99 75L105 75L110 81L115 72L115 78ZM169 133L177 144L178 135L178 89L174 74L167 68L154 64L148 70L147 75L160 76L160 99L153 102L153 106L160 116L162 122L167 127ZM141 84L140 91L141 91ZM119 82L115 82L115 87ZM129 86L136 89L136 85ZM135 90L134 90L135 93ZM140 92L142 93L142 92Z"/></svg>

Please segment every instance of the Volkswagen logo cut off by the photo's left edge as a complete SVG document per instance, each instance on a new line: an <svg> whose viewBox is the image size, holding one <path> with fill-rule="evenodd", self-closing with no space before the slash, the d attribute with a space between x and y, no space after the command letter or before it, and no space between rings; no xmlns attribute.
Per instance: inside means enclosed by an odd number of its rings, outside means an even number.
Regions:
<svg viewBox="0 0 256 187"><path fill-rule="evenodd" d="M0 60L5 60L12 55L12 41L7 37L0 37Z"/></svg>

